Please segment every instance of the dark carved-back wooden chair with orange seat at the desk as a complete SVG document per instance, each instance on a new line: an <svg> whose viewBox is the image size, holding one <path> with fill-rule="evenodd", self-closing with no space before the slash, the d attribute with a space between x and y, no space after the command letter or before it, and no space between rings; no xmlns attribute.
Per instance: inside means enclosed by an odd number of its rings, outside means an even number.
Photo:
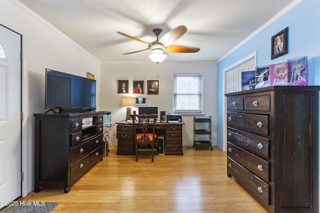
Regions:
<svg viewBox="0 0 320 213"><path fill-rule="evenodd" d="M152 158L151 162L153 162L153 155L154 155L154 145L155 145L155 152L157 155L158 150L158 142L157 142L157 135L154 134L155 132L155 120L158 117L157 114L142 114L142 115L130 115L132 120L135 121L135 117L137 118L137 122L133 122L133 139L134 139L134 146L135 146L135 161L138 161L138 145L151 145L151 152ZM152 133L148 133L151 130L152 124ZM141 133L136 133L136 125L140 126Z"/></svg>

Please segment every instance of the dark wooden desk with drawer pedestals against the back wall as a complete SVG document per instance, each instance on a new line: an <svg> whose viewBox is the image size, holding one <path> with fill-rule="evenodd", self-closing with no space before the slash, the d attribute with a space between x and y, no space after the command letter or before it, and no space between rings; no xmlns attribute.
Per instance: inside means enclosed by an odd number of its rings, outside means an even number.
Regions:
<svg viewBox="0 0 320 213"><path fill-rule="evenodd" d="M133 141L133 124L117 122L116 138L118 139L117 155L135 155ZM184 123L156 123L155 134L164 136L165 155L183 155L182 125ZM137 125L139 126L139 125Z"/></svg>

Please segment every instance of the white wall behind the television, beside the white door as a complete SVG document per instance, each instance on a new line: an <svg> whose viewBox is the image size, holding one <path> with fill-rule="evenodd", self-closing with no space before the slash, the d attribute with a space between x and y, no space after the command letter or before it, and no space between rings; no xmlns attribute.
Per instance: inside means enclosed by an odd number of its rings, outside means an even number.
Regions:
<svg viewBox="0 0 320 213"><path fill-rule="evenodd" d="M45 68L83 77L90 72L95 75L99 88L100 61L16 0L1 0L0 7L0 24L23 35L22 169L26 182L22 196L25 196L34 188L33 113L45 112ZM99 90L96 104L99 106ZM18 133L12 130L12 134Z"/></svg>

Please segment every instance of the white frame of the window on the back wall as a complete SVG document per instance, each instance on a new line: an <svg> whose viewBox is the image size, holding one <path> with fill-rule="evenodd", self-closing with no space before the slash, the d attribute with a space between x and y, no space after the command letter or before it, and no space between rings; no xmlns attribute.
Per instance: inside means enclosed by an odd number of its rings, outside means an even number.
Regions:
<svg viewBox="0 0 320 213"><path fill-rule="evenodd" d="M201 82L200 82L200 91L198 92L198 97L200 98L199 103L200 104L200 109L196 110L196 109L187 109L187 110L183 110L183 109L176 109L176 97L177 97L177 93L176 93L176 79L177 77L201 77ZM172 108L173 108L173 113L174 114L181 114L181 115L201 115L203 114L203 100L204 100L204 94L203 94L203 73L195 73L195 74L173 74L173 103L172 103ZM189 93L181 93L182 95L185 94L189 94ZM195 94L195 93L194 93Z"/></svg>

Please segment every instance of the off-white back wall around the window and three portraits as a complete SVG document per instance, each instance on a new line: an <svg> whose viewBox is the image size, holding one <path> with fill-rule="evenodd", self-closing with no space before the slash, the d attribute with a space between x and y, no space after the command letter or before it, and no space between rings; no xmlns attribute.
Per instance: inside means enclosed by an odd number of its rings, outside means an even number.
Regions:
<svg viewBox="0 0 320 213"><path fill-rule="evenodd" d="M137 53L138 54L138 53ZM178 53L176 53L178 54ZM191 53L190 53L191 54ZM169 57L169 56L168 56ZM123 96L146 97L146 106L157 106L159 111L173 113L173 74L176 73L201 73L204 78L204 117L211 116L212 120L212 145L216 146L216 99L217 80L216 63L213 62L162 62L160 64L150 63L122 63L122 64L101 64L101 110L111 111L113 123L125 119L126 107L121 106ZM117 80L129 80L129 94L117 94ZM133 80L143 80L146 88L147 80L159 81L159 94L148 95L132 94ZM132 111L137 107L132 107ZM200 116L197 116L200 117ZM193 145L193 115L183 115L183 146ZM113 127L115 132L115 127ZM112 134L111 134L112 136ZM117 140L111 138L113 145ZM112 144L111 144L112 145Z"/></svg>

